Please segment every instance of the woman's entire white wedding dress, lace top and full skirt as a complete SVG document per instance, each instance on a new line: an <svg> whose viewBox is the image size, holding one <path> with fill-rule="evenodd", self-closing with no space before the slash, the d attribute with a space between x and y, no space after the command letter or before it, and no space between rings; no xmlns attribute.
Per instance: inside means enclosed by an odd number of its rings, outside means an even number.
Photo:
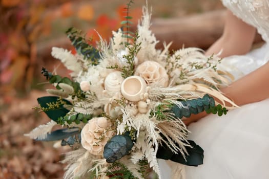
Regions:
<svg viewBox="0 0 269 179"><path fill-rule="evenodd" d="M269 60L269 0L222 0L222 3L256 27L265 41L264 46L246 55L223 59L222 65L229 66L228 71L240 78ZM222 117L209 115L188 128L189 139L204 149L203 165L190 167L173 162L168 165L159 160L162 178L269 178L269 99L244 105ZM181 174L174 169L180 169Z"/></svg>

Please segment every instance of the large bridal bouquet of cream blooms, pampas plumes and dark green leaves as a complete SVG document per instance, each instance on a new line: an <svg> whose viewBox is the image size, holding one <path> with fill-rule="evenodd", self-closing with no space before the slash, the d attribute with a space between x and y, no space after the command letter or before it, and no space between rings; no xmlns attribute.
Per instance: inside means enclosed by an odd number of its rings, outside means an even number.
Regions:
<svg viewBox="0 0 269 179"><path fill-rule="evenodd" d="M54 88L47 89L52 96L37 99L36 108L51 121L27 136L74 149L63 161L65 178L144 178L149 168L160 176L158 158L200 165L203 150L187 140L183 120L204 110L226 114L212 96L232 103L218 91L231 81L217 69L220 58L196 48L171 53L170 44L157 50L148 9L136 33L128 30L130 19L112 32L109 44L101 39L96 48L78 30L67 31L77 53L54 47L52 56L72 79L42 69ZM51 131L55 125L62 128Z"/></svg>

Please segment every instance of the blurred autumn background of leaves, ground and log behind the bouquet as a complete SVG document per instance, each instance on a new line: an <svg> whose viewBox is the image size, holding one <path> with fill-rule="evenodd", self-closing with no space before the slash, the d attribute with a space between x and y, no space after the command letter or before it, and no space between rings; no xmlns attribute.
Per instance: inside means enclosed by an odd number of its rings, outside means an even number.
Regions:
<svg viewBox="0 0 269 179"><path fill-rule="evenodd" d="M124 20L125 0L0 0L0 178L63 178L62 153L52 143L24 137L49 119L32 110L45 96L42 66L61 76L68 71L51 57L52 47L74 51L65 31L81 29L98 40L109 40ZM135 0L131 16L137 24L146 1ZM159 39L173 41L171 49L208 48L223 28L223 6L216 0L148 0L152 30ZM135 29L135 28L134 28Z"/></svg>

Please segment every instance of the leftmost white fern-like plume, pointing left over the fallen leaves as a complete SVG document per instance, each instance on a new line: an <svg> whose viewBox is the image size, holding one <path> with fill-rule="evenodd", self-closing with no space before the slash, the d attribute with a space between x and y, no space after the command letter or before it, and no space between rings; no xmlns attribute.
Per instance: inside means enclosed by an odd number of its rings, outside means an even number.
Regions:
<svg viewBox="0 0 269 179"><path fill-rule="evenodd" d="M39 125L38 127L34 128L30 133L27 133L24 136L28 136L31 139L45 139L55 125L57 125L57 123L51 120L47 124Z"/></svg>

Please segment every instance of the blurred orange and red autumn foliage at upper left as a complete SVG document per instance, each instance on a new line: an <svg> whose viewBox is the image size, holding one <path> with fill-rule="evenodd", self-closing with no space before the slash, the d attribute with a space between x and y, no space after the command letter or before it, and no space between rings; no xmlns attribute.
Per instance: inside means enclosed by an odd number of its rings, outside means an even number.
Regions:
<svg viewBox="0 0 269 179"><path fill-rule="evenodd" d="M116 9L116 16L112 17L109 14L96 16L91 1L2 0L0 27L5 28L0 29L0 93L30 91L34 74L39 71L36 67L40 58L40 41L53 40L55 21L78 19L86 24L84 26L89 25L84 32L87 32L86 37L92 38L92 43L99 40L99 35L109 40L112 31L120 28L125 6L122 2L122 6ZM130 15L137 23L141 9L131 10Z"/></svg>

